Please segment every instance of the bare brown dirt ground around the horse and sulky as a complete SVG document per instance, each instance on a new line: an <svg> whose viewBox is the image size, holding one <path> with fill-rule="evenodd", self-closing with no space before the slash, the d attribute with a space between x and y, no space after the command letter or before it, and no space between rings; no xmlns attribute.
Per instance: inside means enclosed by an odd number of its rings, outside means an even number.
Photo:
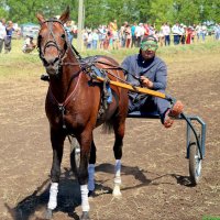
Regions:
<svg viewBox="0 0 220 220"><path fill-rule="evenodd" d="M207 123L200 183L196 187L187 184L186 122L176 121L166 130L158 120L128 119L122 198L114 199L110 194L113 135L98 129L92 220L220 218L219 54L177 57L168 62L168 69L167 91L185 103L185 113L199 116ZM0 219L44 219L52 164L44 113L47 84L34 77L4 79L0 88ZM81 213L79 187L69 167L66 142L54 220L76 220Z"/></svg>

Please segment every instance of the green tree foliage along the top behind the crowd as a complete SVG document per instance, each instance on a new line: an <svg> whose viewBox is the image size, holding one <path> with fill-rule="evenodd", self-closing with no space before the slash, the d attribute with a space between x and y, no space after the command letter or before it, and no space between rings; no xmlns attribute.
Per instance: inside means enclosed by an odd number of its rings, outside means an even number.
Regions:
<svg viewBox="0 0 220 220"><path fill-rule="evenodd" d="M78 19L79 0L0 0L0 18L16 23L34 22L35 14L46 18L59 15L70 7L72 20ZM219 0L84 0L85 25L95 28L108 24L114 19L121 25L124 21L162 23L176 21L193 24L202 21L220 22Z"/></svg>

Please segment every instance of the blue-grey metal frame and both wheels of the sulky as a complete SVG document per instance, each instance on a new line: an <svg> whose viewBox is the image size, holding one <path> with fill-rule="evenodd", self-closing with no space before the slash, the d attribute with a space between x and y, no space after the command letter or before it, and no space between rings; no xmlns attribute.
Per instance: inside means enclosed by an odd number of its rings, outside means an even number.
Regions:
<svg viewBox="0 0 220 220"><path fill-rule="evenodd" d="M160 119L158 112L140 112L134 111L129 113L127 118L136 118L136 119ZM205 143L206 143L206 123L198 116L187 116L182 113L176 120L185 120L187 123L186 128L186 158L189 161L189 177L190 185L195 186L198 184L201 177L201 161L205 157ZM200 124L200 130L196 131L193 121ZM198 130L198 129L197 129ZM77 173L79 161L80 161L80 146L76 141L74 135L68 135L70 142L70 156L74 162L72 166ZM194 151L194 147L197 147L197 151ZM74 156L74 157L73 157Z"/></svg>

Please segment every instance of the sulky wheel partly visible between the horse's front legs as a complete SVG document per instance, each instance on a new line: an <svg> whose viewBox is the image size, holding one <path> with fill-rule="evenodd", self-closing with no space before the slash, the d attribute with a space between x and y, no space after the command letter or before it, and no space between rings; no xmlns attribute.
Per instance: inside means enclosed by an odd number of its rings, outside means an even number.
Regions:
<svg viewBox="0 0 220 220"><path fill-rule="evenodd" d="M76 138L70 136L70 165L72 170L77 176L80 164L80 146Z"/></svg>

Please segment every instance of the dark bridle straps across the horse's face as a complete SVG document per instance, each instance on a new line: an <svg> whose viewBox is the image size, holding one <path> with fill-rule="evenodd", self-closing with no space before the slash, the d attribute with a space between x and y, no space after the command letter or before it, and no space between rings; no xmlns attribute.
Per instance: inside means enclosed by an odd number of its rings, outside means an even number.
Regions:
<svg viewBox="0 0 220 220"><path fill-rule="evenodd" d="M55 34L53 32L53 24L57 22L62 25L63 30L64 30L64 33L61 35L61 38L63 41L65 41L65 44L64 44L64 48L61 47L61 45L57 43L57 40L55 37ZM66 34L66 31L65 31L65 28L64 28L64 24L57 20L57 19L50 19L50 20L46 20L44 21L41 26L46 23L47 24L47 28L48 28L48 38L43 47L43 50L41 48L41 40L42 40L42 36L38 35L38 38L37 38L37 47L38 47L38 52L40 52L40 58L43 61L44 63L44 66L46 66L46 59L45 59L45 51L47 47L51 47L51 46L54 46L57 51L58 51L58 56L55 58L54 63L59 61L58 62L58 66L61 67L62 64L63 64L63 59L66 57L66 53L67 53L67 50L68 50L68 40L67 40L67 34ZM50 36L52 36L53 38L50 40Z"/></svg>

